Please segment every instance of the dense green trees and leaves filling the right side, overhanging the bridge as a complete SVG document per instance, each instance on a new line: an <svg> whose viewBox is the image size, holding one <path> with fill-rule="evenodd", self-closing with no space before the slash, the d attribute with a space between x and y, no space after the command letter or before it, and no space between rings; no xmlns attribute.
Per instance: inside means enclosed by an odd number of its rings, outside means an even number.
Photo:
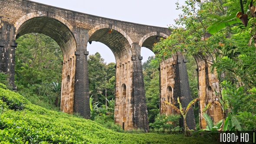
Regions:
<svg viewBox="0 0 256 144"><path fill-rule="evenodd" d="M215 94L222 103L217 106L225 110L223 123L229 118L236 124L243 122L243 130L255 129L252 128L255 121L249 120L256 114L256 19L249 10L255 4L253 0L186 0L184 5L177 3L177 8L183 11L175 20L178 26L170 26L171 35L154 46L158 60L182 53L200 57L212 65L212 72L217 72L222 89L221 93ZM247 27L242 23L242 17L236 17L241 11L248 15Z"/></svg>

